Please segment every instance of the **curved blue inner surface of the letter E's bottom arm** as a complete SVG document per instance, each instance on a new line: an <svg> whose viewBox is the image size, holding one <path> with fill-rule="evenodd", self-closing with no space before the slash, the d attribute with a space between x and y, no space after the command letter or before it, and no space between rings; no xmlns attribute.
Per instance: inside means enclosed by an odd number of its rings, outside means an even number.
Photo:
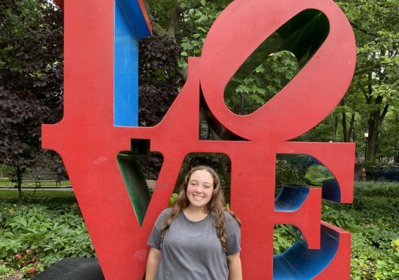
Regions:
<svg viewBox="0 0 399 280"><path fill-rule="evenodd" d="M320 250L309 250L295 242L284 253L273 256L273 279L313 279L330 264L337 253L338 245L338 232L322 227Z"/></svg>

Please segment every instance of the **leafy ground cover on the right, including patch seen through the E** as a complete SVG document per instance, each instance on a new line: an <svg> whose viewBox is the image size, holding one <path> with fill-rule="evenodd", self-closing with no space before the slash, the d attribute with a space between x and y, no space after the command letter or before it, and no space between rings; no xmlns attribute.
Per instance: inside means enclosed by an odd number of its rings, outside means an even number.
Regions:
<svg viewBox="0 0 399 280"><path fill-rule="evenodd" d="M323 200L321 218L351 232L351 278L399 279L399 184L355 182L353 204ZM274 230L274 254L295 240Z"/></svg>

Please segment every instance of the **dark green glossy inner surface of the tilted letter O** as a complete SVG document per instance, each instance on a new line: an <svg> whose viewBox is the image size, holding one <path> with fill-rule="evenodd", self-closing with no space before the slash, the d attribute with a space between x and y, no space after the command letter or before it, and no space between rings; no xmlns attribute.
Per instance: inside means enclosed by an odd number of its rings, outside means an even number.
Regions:
<svg viewBox="0 0 399 280"><path fill-rule="evenodd" d="M303 10L270 35L246 59L225 87L225 100L260 64L276 52L288 50L297 57L298 73L321 47L330 32L328 18L314 9Z"/></svg>

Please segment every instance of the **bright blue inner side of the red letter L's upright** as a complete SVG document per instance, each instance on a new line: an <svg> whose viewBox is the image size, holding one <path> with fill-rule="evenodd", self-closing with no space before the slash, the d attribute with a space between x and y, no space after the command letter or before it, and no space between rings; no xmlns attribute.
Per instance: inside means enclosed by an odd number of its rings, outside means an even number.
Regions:
<svg viewBox="0 0 399 280"><path fill-rule="evenodd" d="M113 125L139 125L139 40L151 36L137 0L116 0Z"/></svg>

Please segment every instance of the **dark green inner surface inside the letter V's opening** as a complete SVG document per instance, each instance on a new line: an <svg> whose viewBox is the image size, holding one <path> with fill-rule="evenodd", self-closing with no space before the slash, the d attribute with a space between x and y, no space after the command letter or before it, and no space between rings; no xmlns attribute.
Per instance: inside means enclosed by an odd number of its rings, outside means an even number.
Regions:
<svg viewBox="0 0 399 280"><path fill-rule="evenodd" d="M139 225L143 224L148 205L151 200L151 193L148 189L146 177L141 169L140 160L150 154L150 141L146 139L132 139L131 151L118 153L116 160L122 174L123 181L127 188L134 213L137 216Z"/></svg>

